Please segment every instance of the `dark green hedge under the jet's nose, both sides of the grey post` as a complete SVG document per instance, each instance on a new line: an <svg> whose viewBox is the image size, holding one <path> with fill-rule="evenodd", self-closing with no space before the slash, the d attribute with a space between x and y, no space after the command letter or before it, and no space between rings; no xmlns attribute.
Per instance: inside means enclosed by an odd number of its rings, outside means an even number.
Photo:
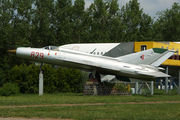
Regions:
<svg viewBox="0 0 180 120"><path fill-rule="evenodd" d="M11 70L11 82L18 84L21 93L38 93L39 67L34 64L14 66ZM85 73L72 68L58 67L44 64L42 67L44 78L44 92L83 92Z"/></svg>

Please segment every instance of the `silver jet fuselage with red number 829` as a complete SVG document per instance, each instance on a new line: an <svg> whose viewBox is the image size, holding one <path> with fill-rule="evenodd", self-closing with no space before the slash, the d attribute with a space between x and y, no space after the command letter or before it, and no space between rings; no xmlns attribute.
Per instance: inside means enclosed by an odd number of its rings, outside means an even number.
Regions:
<svg viewBox="0 0 180 120"><path fill-rule="evenodd" d="M59 51L38 48L17 48L16 55L19 58L30 61L77 68L91 72L95 70L100 74L138 78L143 80L154 79L155 77L148 75L148 73L157 72L155 69L124 63L115 58L96 56L63 48L59 49ZM147 72L147 75L138 74L139 72ZM165 77L169 77L169 75Z"/></svg>

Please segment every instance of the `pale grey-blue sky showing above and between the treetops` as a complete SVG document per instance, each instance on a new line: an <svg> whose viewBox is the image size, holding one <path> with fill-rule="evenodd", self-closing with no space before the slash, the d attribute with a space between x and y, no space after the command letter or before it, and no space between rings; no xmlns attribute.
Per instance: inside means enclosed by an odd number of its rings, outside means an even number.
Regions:
<svg viewBox="0 0 180 120"><path fill-rule="evenodd" d="M74 3L75 0L72 0ZM85 8L88 8L94 0L84 0ZM130 0L118 0L119 7L121 8L123 5L126 5ZM174 2L179 3L180 0L138 0L140 3L140 7L143 8L144 13L148 14L152 18L155 17L157 19L156 13L158 11L163 11L166 9L171 9Z"/></svg>

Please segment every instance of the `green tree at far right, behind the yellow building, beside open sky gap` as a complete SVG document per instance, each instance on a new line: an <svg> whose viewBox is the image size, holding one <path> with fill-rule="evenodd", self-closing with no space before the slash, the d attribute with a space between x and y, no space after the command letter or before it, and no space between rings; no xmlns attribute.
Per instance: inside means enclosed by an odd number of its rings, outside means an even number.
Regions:
<svg viewBox="0 0 180 120"><path fill-rule="evenodd" d="M155 41L180 41L180 5L158 12L159 18L153 26Z"/></svg>

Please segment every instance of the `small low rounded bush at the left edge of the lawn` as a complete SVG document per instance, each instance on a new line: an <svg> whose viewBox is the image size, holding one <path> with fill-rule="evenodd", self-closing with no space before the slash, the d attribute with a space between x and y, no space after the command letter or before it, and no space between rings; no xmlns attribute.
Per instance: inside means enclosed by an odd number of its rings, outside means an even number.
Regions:
<svg viewBox="0 0 180 120"><path fill-rule="evenodd" d="M5 83L3 87L0 88L0 95L1 96L9 96L11 94L19 93L19 87L17 84L13 83Z"/></svg>

